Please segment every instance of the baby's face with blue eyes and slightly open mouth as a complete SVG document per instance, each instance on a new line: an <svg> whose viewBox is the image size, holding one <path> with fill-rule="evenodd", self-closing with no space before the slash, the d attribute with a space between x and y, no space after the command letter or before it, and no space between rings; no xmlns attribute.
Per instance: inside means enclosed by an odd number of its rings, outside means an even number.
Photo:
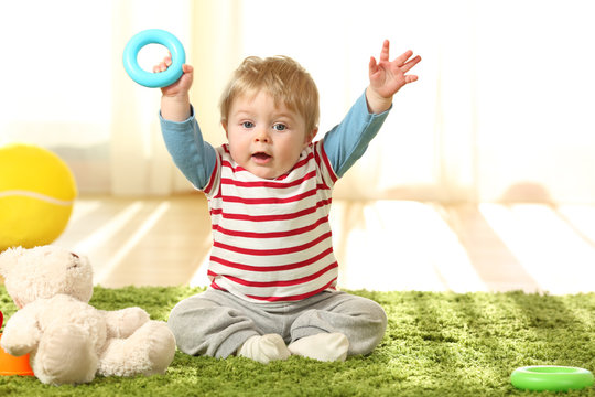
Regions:
<svg viewBox="0 0 595 397"><path fill-rule="evenodd" d="M306 133L303 117L284 105L275 107L262 89L234 99L224 128L231 158L263 179L290 171L315 135Z"/></svg>

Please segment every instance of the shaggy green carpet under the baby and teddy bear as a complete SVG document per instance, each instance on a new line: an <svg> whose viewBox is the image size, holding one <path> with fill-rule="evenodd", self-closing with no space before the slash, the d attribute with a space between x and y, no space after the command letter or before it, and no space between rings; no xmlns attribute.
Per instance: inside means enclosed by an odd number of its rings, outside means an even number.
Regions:
<svg viewBox="0 0 595 397"><path fill-rule="evenodd" d="M99 309L139 305L166 320L190 288L97 287ZM302 357L261 365L176 353L166 375L97 377L80 386L45 386L0 376L0 396L553 396L517 390L510 373L526 365L570 365L595 372L595 293L354 293L387 311L387 334L369 356L345 363ZM0 310L15 310L0 287ZM558 394L559 395L559 394ZM566 396L595 396L595 388Z"/></svg>

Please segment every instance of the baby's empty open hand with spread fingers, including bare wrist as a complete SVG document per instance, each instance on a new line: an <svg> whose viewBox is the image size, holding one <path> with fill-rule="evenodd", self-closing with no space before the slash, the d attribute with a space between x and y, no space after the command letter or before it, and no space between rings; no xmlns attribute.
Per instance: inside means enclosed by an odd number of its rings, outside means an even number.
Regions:
<svg viewBox="0 0 595 397"><path fill-rule="evenodd" d="M392 96L405 84L418 79L415 75L405 75L420 61L421 56L407 51L394 61L389 61L389 41L385 40L380 58L377 62L372 56L369 63L370 85L366 89L366 99L370 112L380 114L388 110L392 104Z"/></svg>

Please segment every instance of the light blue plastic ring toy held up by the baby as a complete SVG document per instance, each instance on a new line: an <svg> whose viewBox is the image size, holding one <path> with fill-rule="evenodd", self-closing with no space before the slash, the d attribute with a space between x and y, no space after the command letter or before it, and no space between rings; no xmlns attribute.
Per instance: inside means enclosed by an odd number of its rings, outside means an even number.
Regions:
<svg viewBox="0 0 595 397"><path fill-rule="evenodd" d="M170 50L172 65L165 72L150 73L139 66L137 57L139 51L148 44L161 44ZM186 62L184 46L172 33L161 29L148 29L130 39L123 51L123 65L126 73L138 84L155 88L174 84L184 73L182 65Z"/></svg>

